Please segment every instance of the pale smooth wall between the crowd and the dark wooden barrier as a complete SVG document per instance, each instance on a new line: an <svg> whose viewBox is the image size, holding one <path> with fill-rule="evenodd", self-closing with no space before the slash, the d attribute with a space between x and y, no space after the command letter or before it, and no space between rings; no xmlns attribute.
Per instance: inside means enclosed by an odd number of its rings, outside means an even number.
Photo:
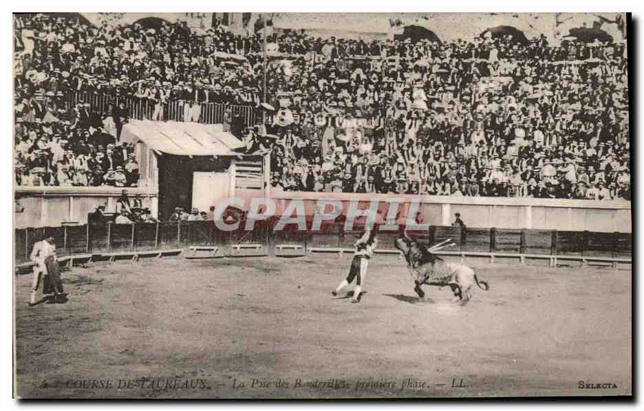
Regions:
<svg viewBox="0 0 644 411"><path fill-rule="evenodd" d="M18 188L16 195L24 210L14 212L14 228L56 227L62 223L87 223L87 213L96 210L99 203L107 204L107 212L116 211L116 200L122 188L113 187L45 187ZM158 190L155 188L127 188L130 201L140 195L143 207L158 212ZM232 193L245 199L262 197L261 191ZM574 230L594 232L632 232L631 203L627 201L585 201L564 199L519 199L492 197L443 197L413 195L370 195L336 192L272 192L277 203L277 214L286 210L293 199L304 201L306 214L314 214L319 199L337 199L347 209L350 200L380 201L385 210L386 199L400 201L401 218L406 219L409 203L420 203L422 223L451 225L455 212L460 212L468 227L497 227L503 229ZM402 222L402 221L400 221Z"/></svg>

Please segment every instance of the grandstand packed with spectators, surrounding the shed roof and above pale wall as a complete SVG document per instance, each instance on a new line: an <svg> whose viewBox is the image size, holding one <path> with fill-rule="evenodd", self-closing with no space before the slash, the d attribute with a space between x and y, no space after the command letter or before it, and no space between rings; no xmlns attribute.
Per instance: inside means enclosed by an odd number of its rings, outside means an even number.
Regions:
<svg viewBox="0 0 644 411"><path fill-rule="evenodd" d="M270 154L272 190L630 200L624 43L266 44L265 60L262 30L14 15L16 184L137 186L120 139L136 118L223 123Z"/></svg>

